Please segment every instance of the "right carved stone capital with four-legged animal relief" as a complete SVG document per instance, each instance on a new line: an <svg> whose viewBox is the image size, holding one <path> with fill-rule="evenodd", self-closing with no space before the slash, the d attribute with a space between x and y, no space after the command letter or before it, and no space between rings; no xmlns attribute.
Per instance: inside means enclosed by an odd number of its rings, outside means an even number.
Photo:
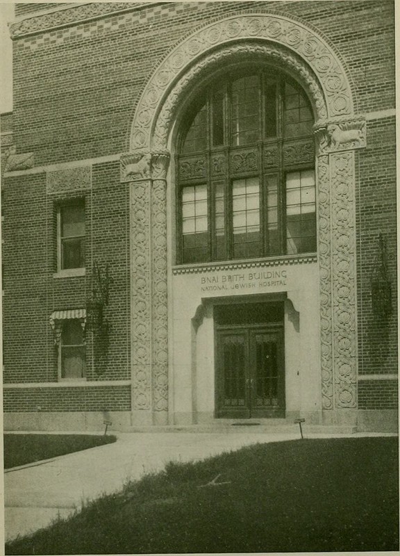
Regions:
<svg viewBox="0 0 400 556"><path fill-rule="evenodd" d="M319 120L314 126L314 133L318 155L367 146L367 122L364 116Z"/></svg>

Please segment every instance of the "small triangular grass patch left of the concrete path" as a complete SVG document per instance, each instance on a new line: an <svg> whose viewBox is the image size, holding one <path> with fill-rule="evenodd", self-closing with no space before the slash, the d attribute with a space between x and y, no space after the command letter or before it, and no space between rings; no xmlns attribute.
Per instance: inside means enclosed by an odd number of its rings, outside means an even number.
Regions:
<svg viewBox="0 0 400 556"><path fill-rule="evenodd" d="M115 436L92 434L4 434L4 468L79 452L115 442Z"/></svg>

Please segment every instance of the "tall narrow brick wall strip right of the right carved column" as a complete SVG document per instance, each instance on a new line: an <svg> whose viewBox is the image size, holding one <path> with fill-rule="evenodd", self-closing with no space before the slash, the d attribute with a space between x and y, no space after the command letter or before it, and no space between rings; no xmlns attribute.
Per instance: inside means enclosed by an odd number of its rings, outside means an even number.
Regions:
<svg viewBox="0 0 400 556"><path fill-rule="evenodd" d="M360 374L397 373L397 222L394 117L372 120L367 148L358 153L358 368ZM379 234L387 243L392 313L372 309L371 281L379 265Z"/></svg>

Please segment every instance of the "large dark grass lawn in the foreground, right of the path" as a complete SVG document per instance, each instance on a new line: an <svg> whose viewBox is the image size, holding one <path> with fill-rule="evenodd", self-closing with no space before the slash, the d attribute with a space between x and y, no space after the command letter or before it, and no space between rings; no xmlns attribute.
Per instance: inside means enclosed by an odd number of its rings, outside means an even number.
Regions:
<svg viewBox="0 0 400 556"><path fill-rule="evenodd" d="M304 439L172 463L6 554L397 550L397 442ZM217 475L226 484L202 486Z"/></svg>

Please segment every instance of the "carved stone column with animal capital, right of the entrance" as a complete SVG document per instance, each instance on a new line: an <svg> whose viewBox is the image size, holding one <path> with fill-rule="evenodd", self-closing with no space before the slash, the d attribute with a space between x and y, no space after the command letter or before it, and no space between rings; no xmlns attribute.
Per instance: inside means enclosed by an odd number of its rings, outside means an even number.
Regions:
<svg viewBox="0 0 400 556"><path fill-rule="evenodd" d="M317 124L319 291L324 423L355 424L357 284L355 149L365 147L360 117Z"/></svg>

